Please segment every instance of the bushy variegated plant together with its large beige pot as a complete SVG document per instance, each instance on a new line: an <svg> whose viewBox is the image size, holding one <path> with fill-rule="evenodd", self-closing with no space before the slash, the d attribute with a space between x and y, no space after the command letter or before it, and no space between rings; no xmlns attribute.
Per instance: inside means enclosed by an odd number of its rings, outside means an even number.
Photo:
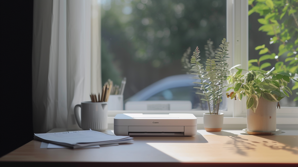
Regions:
<svg viewBox="0 0 298 167"><path fill-rule="evenodd" d="M237 68L238 69L238 68ZM231 69L230 69L231 70ZM279 101L285 96L292 94L287 84L295 76L285 72L273 73L274 67L270 71L257 70L248 71L242 74L242 69L231 73L228 76L228 84L234 92L226 93L228 98L242 100L246 98L247 108L247 131L251 132L275 132L276 131L276 109Z"/></svg>

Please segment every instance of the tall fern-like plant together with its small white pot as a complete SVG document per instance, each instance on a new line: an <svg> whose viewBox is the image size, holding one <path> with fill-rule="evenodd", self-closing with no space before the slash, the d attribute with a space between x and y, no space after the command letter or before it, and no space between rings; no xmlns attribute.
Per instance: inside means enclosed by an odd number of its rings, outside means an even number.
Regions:
<svg viewBox="0 0 298 167"><path fill-rule="evenodd" d="M196 89L203 90L202 93L196 92L197 94L203 95L205 98L201 99L206 101L209 108L209 113L204 113L204 128L208 132L219 132L223 127L224 113L219 113L220 102L222 101L221 96L224 88L224 81L227 79L228 74L228 64L226 63L228 57L228 46L229 42L226 42L224 38L222 44L217 49L218 52L215 57L207 59L206 67L204 69L203 64L200 63L200 50L198 46L193 52L193 56L190 60L191 73L196 75L193 77L198 79L198 82L193 82L200 84L200 87L195 87Z"/></svg>

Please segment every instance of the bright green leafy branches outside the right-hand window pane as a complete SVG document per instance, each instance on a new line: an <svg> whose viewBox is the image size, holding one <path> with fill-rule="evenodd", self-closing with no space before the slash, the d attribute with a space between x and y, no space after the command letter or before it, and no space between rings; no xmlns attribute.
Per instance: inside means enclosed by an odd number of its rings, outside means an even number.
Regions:
<svg viewBox="0 0 298 167"><path fill-rule="evenodd" d="M266 47L267 44L256 46L261 56L249 60L249 70L274 66L274 73L298 74L298 0L249 0L249 5L252 6L249 15L262 16L258 22L263 25L258 30L266 32L269 44L278 47L275 53ZM284 62L280 61L281 56L286 57ZM266 62L270 59L276 60L275 65Z"/></svg>

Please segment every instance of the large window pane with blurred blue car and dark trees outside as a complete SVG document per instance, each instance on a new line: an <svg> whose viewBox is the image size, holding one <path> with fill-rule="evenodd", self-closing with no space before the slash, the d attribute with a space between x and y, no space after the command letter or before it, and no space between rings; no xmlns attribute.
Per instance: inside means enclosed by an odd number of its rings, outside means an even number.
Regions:
<svg viewBox="0 0 298 167"><path fill-rule="evenodd" d="M218 48L226 38L226 1L101 0L100 3L103 83L111 79L120 85L126 77L125 102L190 100L194 109L206 110L200 95L195 94L198 90L193 88L194 76L187 74L181 57L190 47L187 54L190 60L198 46L201 61L205 62L209 58L205 45L215 46L213 50ZM148 90L148 86L152 89ZM144 99L146 93L150 95ZM226 109L226 105L221 106Z"/></svg>

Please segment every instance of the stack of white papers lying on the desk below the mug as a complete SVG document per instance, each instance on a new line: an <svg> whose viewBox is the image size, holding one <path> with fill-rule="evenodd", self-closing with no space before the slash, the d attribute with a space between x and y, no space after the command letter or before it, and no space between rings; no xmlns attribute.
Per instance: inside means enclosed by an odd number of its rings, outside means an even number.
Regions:
<svg viewBox="0 0 298 167"><path fill-rule="evenodd" d="M93 130L59 132L59 133L40 133L34 134L34 139L46 143L59 144L73 149L87 146L103 146L107 144L120 144L132 142L129 136L107 135Z"/></svg>

